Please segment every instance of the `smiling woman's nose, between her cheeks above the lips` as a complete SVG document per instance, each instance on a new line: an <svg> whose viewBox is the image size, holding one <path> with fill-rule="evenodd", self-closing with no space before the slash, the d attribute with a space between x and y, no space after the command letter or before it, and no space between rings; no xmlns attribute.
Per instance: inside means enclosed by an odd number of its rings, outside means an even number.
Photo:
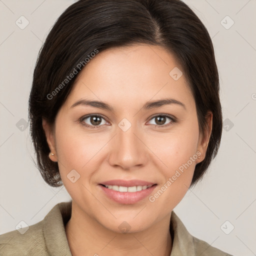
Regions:
<svg viewBox="0 0 256 256"><path fill-rule="evenodd" d="M126 131L116 128L116 135L109 144L108 162L124 170L142 167L149 159L149 149L143 140L145 136L131 125Z"/></svg>

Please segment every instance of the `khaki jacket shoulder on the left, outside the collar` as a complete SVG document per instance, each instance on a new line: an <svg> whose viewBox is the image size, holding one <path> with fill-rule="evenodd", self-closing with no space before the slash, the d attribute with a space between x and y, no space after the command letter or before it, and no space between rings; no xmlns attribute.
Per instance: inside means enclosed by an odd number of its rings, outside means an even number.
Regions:
<svg viewBox="0 0 256 256"><path fill-rule="evenodd" d="M12 230L0 235L0 255L48 255L45 247L42 220L18 230ZM26 230L27 229L27 230Z"/></svg>

